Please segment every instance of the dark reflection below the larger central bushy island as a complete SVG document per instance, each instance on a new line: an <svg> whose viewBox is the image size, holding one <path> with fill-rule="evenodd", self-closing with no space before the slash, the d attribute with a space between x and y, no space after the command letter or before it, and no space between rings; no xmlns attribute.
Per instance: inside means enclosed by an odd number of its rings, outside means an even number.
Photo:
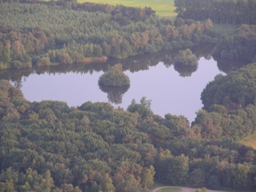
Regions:
<svg viewBox="0 0 256 192"><path fill-rule="evenodd" d="M126 93L130 85L125 86L100 86L102 92L108 93L108 101L113 104L121 104L124 93Z"/></svg>

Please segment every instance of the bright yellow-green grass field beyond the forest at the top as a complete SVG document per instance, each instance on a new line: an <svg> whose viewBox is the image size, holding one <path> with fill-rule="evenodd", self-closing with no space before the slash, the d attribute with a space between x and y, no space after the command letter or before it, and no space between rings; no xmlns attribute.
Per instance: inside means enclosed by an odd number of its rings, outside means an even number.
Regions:
<svg viewBox="0 0 256 192"><path fill-rule="evenodd" d="M77 0L79 3L86 2L87 0ZM103 4L123 4L124 6L134 6L144 8L145 6L149 6L152 10L156 11L156 15L164 16L164 17L175 17L177 13L174 13L175 10L174 0L139 0L139 1L131 1L131 0L90 0L87 2L92 3L103 3Z"/></svg>

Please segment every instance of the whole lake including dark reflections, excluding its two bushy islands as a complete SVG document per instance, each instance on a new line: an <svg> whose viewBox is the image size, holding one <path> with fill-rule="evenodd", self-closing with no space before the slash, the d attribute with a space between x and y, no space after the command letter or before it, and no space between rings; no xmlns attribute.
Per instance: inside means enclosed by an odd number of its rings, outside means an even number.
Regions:
<svg viewBox="0 0 256 192"><path fill-rule="evenodd" d="M205 49L204 49L205 51ZM111 102L127 109L132 99L152 100L154 114L184 115L191 123L202 108L200 94L209 81L221 71L211 54L195 51L197 68L177 68L172 60L177 51L134 56L106 63L58 65L22 70L6 70L2 76L19 87L29 101L61 100L68 106L84 102ZM204 56L203 56L204 55ZM100 88L99 77L115 63L122 63L131 85L125 88ZM222 72L223 73L223 72Z"/></svg>

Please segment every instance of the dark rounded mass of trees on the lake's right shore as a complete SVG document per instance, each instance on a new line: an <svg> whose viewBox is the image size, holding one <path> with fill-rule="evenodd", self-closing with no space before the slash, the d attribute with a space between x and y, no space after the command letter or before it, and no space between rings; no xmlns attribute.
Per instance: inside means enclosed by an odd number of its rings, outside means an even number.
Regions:
<svg viewBox="0 0 256 192"><path fill-rule="evenodd" d="M255 76L255 63L229 72L227 76L221 74L216 76L214 81L207 84L201 94L204 108L209 109L212 104L227 106L230 103L235 103L236 108L245 108L249 104L255 104Z"/></svg>

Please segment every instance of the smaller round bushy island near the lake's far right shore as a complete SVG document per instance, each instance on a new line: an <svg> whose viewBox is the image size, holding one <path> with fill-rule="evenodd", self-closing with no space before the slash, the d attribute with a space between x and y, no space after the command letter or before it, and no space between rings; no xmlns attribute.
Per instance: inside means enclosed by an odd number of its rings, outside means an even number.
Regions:
<svg viewBox="0 0 256 192"><path fill-rule="evenodd" d="M193 55L190 49L179 51L179 54L174 58L174 64L181 66L196 66L197 61L196 56Z"/></svg>

